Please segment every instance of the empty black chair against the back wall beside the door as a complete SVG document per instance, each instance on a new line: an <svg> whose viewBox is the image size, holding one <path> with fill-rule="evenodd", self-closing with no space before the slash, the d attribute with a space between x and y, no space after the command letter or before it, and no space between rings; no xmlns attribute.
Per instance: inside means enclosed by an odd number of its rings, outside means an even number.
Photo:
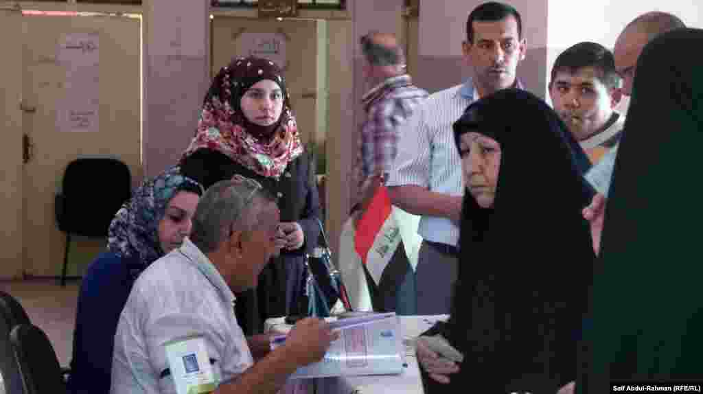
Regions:
<svg viewBox="0 0 703 394"><path fill-rule="evenodd" d="M71 235L107 237L112 218L130 196L131 173L120 160L80 158L66 166L56 195L56 222L66 233L61 286L66 284Z"/></svg>

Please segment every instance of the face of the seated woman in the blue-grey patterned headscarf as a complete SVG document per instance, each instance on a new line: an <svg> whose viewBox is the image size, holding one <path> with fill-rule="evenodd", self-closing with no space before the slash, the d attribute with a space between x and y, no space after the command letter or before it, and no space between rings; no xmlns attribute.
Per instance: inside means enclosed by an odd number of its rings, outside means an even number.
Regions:
<svg viewBox="0 0 703 394"><path fill-rule="evenodd" d="M159 242L164 253L181 247L183 238L191 235L193 214L200 197L193 192L177 192L159 221Z"/></svg>

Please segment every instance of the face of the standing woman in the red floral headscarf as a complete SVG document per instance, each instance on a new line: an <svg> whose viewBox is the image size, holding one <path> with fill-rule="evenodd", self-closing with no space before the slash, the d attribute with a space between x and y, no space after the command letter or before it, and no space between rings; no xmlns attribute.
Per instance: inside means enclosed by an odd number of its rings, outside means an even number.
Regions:
<svg viewBox="0 0 703 394"><path fill-rule="evenodd" d="M278 122L283 110L283 91L271 79L262 79L244 93L240 106L249 122L271 126Z"/></svg>

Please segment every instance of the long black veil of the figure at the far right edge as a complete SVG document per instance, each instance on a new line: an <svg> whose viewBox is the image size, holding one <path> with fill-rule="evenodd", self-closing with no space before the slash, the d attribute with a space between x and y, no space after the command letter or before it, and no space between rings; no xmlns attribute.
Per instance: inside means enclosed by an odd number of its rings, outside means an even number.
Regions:
<svg viewBox="0 0 703 394"><path fill-rule="evenodd" d="M588 393L701 376L702 46L703 30L678 29L638 59L595 265Z"/></svg>

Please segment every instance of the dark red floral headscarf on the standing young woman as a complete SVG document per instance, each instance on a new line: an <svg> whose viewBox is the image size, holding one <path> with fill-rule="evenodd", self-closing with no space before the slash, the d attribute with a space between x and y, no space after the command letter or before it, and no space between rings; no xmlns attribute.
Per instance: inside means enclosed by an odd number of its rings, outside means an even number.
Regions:
<svg viewBox="0 0 703 394"><path fill-rule="evenodd" d="M276 82L283 93L283 110L271 127L250 122L240 100L254 84ZM288 163L303 152L290 96L278 66L262 58L237 58L222 67L205 96L195 137L183 153L185 159L207 148L223 153L259 175L278 178Z"/></svg>

